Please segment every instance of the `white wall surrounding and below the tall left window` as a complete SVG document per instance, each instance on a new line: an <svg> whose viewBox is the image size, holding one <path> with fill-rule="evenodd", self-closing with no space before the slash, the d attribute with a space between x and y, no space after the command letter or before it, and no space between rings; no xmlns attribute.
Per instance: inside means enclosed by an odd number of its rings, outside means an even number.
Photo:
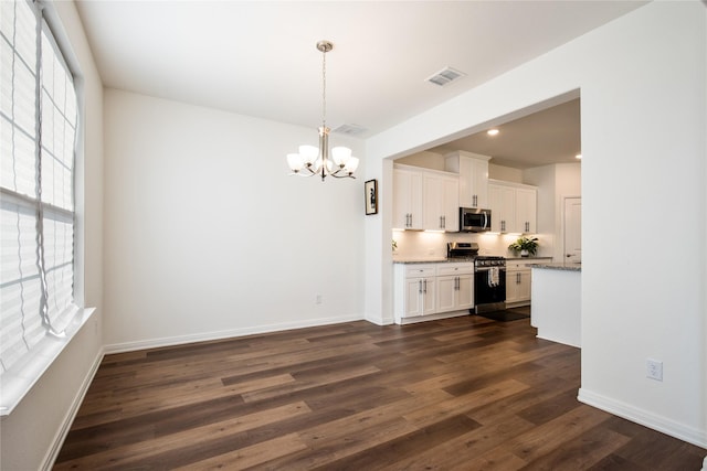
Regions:
<svg viewBox="0 0 707 471"><path fill-rule="evenodd" d="M103 315L103 85L73 2L48 6L57 41L80 67L84 97L84 158L76 168L77 237L84 247L85 306L96 313L72 339L17 408L0 422L0 468L38 470L50 465L71 425L83 387L101 358ZM83 183L82 183L83 182ZM81 206L83 205L83 210ZM81 269L80 269L81 270Z"/></svg>

